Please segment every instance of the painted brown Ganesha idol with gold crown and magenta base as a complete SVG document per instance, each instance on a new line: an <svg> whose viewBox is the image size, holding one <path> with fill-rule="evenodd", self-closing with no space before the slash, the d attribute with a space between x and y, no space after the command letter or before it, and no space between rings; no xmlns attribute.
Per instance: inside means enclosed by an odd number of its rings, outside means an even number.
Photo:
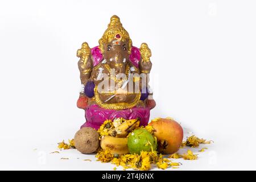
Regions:
<svg viewBox="0 0 256 182"><path fill-rule="evenodd" d="M82 127L98 129L107 119L138 118L145 126L155 107L149 82L151 51L134 47L118 16L110 18L99 45L77 50L82 89L77 107L85 110Z"/></svg>

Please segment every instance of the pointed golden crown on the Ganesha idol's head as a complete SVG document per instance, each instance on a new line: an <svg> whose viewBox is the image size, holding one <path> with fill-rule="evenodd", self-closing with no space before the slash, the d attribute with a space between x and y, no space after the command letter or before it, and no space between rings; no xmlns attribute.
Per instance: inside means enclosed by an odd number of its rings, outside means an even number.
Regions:
<svg viewBox="0 0 256 182"><path fill-rule="evenodd" d="M123 28L122 23L120 22L120 18L117 15L113 15L110 18L110 23L108 24L107 30L102 35L102 38L98 40L99 48L102 54L104 53L104 45L114 40L116 38L115 35L117 34L121 35L123 41L128 42L128 51L129 54L131 53L131 47L133 43L131 42L130 36L125 28Z"/></svg>

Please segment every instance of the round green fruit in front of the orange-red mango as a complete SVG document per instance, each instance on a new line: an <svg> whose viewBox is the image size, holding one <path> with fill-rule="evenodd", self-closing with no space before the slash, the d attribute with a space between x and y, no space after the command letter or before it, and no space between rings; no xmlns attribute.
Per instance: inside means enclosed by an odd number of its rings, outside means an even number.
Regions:
<svg viewBox="0 0 256 182"><path fill-rule="evenodd" d="M128 137L127 143L130 154L141 154L141 151L156 150L155 138L146 129L134 130Z"/></svg>

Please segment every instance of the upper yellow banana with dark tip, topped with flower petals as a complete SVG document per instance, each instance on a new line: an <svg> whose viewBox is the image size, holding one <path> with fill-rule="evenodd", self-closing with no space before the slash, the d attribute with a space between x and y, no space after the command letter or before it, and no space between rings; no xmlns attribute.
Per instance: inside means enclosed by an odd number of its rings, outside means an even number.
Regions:
<svg viewBox="0 0 256 182"><path fill-rule="evenodd" d="M109 135L113 137L123 138L126 137L131 131L139 127L139 119L130 119L122 123L117 123L118 120L114 121L114 129L109 130Z"/></svg>

